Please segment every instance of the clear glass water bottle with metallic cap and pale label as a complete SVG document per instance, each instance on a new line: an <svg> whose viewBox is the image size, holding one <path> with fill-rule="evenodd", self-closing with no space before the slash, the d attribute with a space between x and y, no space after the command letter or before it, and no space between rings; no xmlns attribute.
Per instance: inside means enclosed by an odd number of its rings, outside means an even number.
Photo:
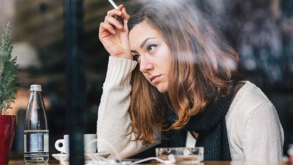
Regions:
<svg viewBox="0 0 293 165"><path fill-rule="evenodd" d="M24 123L24 161L46 163L49 159L49 130L42 87L31 85Z"/></svg>

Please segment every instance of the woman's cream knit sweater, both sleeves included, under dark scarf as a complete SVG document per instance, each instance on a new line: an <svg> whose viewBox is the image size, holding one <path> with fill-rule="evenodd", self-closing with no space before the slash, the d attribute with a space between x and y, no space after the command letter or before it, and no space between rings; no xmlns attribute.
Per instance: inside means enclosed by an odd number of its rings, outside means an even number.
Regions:
<svg viewBox="0 0 293 165"><path fill-rule="evenodd" d="M137 62L109 57L106 80L98 111L98 151L111 153L110 158L127 158L161 142L160 131L154 132L155 143L148 147L131 141L128 112L130 78ZM249 81L238 91L226 114L228 143L232 160L278 161L282 159L284 133L277 111L262 91ZM195 139L188 135L187 145Z"/></svg>

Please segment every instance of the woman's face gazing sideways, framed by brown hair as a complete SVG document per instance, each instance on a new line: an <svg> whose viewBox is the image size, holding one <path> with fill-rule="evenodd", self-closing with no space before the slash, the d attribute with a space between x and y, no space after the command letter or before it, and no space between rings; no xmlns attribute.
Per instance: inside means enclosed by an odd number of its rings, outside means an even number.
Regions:
<svg viewBox="0 0 293 165"><path fill-rule="evenodd" d="M159 32L146 22L141 22L129 32L129 42L132 55L137 59L144 77L159 92L167 92L171 52Z"/></svg>

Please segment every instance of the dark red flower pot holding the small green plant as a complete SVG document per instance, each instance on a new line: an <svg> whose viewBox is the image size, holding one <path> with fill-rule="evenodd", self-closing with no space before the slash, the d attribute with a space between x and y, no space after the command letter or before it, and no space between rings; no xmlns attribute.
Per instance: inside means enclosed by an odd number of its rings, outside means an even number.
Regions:
<svg viewBox="0 0 293 165"><path fill-rule="evenodd" d="M0 164L8 164L15 125L15 115L0 115Z"/></svg>

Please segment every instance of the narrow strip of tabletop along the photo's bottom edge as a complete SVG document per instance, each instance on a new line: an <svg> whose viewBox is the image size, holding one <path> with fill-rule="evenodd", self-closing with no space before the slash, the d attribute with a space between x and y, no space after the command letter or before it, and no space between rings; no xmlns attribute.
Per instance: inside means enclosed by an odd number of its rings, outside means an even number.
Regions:
<svg viewBox="0 0 293 165"><path fill-rule="evenodd" d="M9 164L25 164L23 160L10 160ZM33 165L33 163L31 163ZM36 163L35 163L36 164ZM57 165L58 161L49 160L49 165ZM143 163L144 165L156 165L160 163ZM162 163L161 163L162 164ZM289 165L289 162L246 162L246 161L203 161L199 165ZM27 165L27 164L26 164ZM178 164L180 165L180 164ZM186 165L186 164L184 164Z"/></svg>

